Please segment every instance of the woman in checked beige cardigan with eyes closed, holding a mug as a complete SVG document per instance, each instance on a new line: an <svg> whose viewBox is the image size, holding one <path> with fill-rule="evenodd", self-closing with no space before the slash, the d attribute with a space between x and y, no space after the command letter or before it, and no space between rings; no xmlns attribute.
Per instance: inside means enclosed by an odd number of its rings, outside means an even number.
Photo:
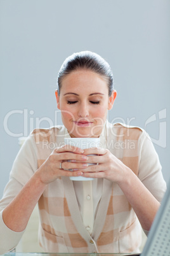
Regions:
<svg viewBox="0 0 170 256"><path fill-rule="evenodd" d="M16 157L0 203L1 253L16 246L37 202L46 252L139 252L137 218L147 233L166 183L146 132L108 123L116 95L110 66L96 53L63 62L56 90L63 125L34 130ZM100 137L102 146L63 146L70 136Z"/></svg>

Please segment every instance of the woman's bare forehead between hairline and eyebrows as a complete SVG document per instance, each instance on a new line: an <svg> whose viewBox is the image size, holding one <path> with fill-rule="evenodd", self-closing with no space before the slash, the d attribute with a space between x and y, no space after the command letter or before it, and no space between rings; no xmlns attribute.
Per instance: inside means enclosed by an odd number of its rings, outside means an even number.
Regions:
<svg viewBox="0 0 170 256"><path fill-rule="evenodd" d="M61 92L65 93L70 90L80 92L98 92L108 93L107 80L105 76L101 76L89 70L73 71L69 75L63 77Z"/></svg>

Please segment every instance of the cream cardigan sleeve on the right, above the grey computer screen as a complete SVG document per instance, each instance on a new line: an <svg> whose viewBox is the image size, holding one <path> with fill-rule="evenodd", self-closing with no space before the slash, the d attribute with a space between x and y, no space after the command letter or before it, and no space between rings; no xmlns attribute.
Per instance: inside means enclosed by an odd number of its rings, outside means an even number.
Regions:
<svg viewBox="0 0 170 256"><path fill-rule="evenodd" d="M143 131L140 138L140 163L138 178L159 201L166 192L166 181L162 175L162 166L154 145L147 132Z"/></svg>

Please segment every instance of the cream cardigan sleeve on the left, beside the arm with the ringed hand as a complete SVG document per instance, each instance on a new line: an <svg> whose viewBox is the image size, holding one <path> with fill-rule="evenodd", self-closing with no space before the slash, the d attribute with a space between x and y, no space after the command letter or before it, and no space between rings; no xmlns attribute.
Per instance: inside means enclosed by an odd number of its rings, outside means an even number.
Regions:
<svg viewBox="0 0 170 256"><path fill-rule="evenodd" d="M10 180L4 188L0 201L0 254L6 253L19 243L23 232L9 229L3 222L3 210L22 190L30 177L37 170L37 152L34 138L29 136L18 152L10 173Z"/></svg>

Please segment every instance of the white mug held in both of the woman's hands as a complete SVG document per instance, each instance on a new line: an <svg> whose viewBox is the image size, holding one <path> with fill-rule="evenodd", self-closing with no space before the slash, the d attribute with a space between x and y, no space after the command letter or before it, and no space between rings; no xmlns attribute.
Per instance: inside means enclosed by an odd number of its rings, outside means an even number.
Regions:
<svg viewBox="0 0 170 256"><path fill-rule="evenodd" d="M67 145L77 146L81 149L86 148L93 148L93 147L99 147L100 146L100 138L64 138L64 142ZM71 160L71 159L70 159ZM93 165L91 163L88 163L89 166ZM70 180L77 180L77 181L85 181L85 180L93 180L93 178L85 178L83 176L77 176L77 177L70 177Z"/></svg>

